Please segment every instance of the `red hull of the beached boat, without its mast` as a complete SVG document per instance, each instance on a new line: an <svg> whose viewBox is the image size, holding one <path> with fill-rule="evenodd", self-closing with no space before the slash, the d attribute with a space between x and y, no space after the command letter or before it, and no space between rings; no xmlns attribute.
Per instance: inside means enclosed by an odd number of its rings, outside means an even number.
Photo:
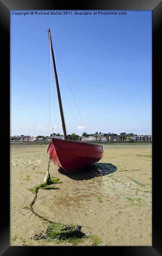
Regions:
<svg viewBox="0 0 162 256"><path fill-rule="evenodd" d="M55 165L66 173L75 173L92 163L97 163L103 157L103 147L92 143L52 139L47 153Z"/></svg>

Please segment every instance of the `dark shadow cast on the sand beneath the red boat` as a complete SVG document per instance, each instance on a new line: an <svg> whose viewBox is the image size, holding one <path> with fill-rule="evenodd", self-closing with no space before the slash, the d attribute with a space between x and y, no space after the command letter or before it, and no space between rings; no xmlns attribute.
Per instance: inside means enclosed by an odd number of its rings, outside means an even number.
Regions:
<svg viewBox="0 0 162 256"><path fill-rule="evenodd" d="M61 168L59 168L58 171L72 180L90 180L95 177L114 173L117 171L117 167L111 163L94 163L87 168L81 169L77 173L66 173Z"/></svg>

